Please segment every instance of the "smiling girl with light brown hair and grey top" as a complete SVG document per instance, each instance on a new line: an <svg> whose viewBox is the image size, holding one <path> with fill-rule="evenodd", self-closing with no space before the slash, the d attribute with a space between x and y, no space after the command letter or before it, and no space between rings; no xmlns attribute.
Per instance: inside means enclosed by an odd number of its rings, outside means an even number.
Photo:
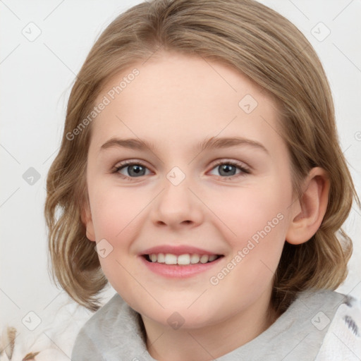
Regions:
<svg viewBox="0 0 361 361"><path fill-rule="evenodd" d="M73 86L47 192L56 279L90 310L117 292L72 360L361 357L360 306L334 291L360 202L329 84L266 6L118 16Z"/></svg>

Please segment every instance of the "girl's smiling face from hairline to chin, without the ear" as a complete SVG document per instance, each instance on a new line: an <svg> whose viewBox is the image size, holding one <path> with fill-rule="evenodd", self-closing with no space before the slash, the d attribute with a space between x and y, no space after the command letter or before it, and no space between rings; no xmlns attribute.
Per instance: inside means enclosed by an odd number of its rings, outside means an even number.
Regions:
<svg viewBox="0 0 361 361"><path fill-rule="evenodd" d="M84 218L111 285L164 326L258 312L293 193L274 102L229 66L165 52L109 80L104 97Z"/></svg>

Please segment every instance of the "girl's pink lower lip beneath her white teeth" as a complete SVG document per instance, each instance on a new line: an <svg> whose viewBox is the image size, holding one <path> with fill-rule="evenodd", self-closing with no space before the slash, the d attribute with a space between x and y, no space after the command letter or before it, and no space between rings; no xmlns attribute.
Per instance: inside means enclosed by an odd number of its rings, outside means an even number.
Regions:
<svg viewBox="0 0 361 361"><path fill-rule="evenodd" d="M187 277L192 277L202 272L208 271L216 264L219 264L219 261L223 257L219 257L213 262L208 263L197 263L192 265L179 265L179 264L165 264L165 263L157 263L157 262L148 262L145 257L140 256L141 261L145 264L145 266L150 269L150 271L155 274L159 274L164 277L169 278L178 278L184 279Z"/></svg>

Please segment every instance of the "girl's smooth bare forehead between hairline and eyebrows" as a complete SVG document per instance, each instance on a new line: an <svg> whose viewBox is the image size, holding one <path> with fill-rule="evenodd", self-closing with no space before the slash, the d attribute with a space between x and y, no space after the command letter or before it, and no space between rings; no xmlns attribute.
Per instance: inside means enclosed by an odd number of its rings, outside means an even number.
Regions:
<svg viewBox="0 0 361 361"><path fill-rule="evenodd" d="M104 97L109 104L92 124L99 143L114 135L161 145L207 135L281 141L269 95L231 66L200 56L164 52L134 63L106 82L96 104Z"/></svg>

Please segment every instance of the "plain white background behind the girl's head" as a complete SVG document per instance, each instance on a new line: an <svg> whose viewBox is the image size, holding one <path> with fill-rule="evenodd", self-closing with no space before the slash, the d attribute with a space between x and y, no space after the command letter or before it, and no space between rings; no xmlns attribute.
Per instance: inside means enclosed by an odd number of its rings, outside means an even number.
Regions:
<svg viewBox="0 0 361 361"><path fill-rule="evenodd" d="M0 326L7 322L21 328L21 319L30 311L47 322L45 312L55 300L65 299L47 272L43 216L47 171L59 149L75 74L106 25L140 2L0 0ZM360 195L360 1L260 2L291 20L319 54L334 94L342 149ZM331 31L323 41L314 37L326 35L326 27L317 25L320 22ZM30 42L27 37L36 34L36 27L41 34ZM40 176L33 185L23 178L30 167ZM345 230L353 238L355 252L348 279L338 288L359 298L360 224L361 212L354 205ZM109 289L104 301L113 292Z"/></svg>

